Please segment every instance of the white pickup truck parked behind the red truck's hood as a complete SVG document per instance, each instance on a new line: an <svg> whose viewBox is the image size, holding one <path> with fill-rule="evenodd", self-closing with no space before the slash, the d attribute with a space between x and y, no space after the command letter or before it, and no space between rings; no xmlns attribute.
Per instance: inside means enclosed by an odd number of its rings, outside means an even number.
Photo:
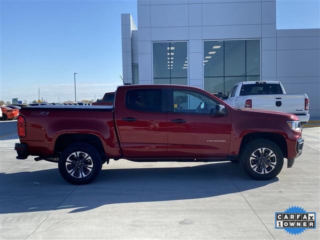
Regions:
<svg viewBox="0 0 320 240"><path fill-rule="evenodd" d="M301 123L309 120L309 98L305 93L286 94L279 81L236 83L224 100L233 107L282 111L296 115Z"/></svg>

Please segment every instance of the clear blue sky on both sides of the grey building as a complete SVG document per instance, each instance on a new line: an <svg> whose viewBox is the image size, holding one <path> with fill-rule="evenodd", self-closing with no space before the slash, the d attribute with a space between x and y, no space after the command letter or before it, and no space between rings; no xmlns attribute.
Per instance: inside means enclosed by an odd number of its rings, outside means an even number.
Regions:
<svg viewBox="0 0 320 240"><path fill-rule="evenodd" d="M277 28L319 28L319 0L277 0ZM102 97L122 81L121 13L136 0L0 0L0 100Z"/></svg>

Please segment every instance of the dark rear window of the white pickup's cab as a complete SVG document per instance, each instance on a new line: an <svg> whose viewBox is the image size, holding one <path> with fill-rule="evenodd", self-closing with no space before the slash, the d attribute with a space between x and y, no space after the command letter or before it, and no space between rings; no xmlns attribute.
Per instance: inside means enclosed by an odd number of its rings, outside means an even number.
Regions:
<svg viewBox="0 0 320 240"><path fill-rule="evenodd" d="M243 84L240 89L240 96L261 95L261 94L282 94L280 84L255 83Z"/></svg>

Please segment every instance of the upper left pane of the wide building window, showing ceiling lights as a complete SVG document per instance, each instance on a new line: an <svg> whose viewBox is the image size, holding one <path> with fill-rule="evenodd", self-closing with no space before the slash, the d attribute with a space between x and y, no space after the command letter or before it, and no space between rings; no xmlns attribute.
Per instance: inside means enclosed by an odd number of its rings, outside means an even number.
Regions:
<svg viewBox="0 0 320 240"><path fill-rule="evenodd" d="M223 76L223 41L203 42L203 71L206 76Z"/></svg>

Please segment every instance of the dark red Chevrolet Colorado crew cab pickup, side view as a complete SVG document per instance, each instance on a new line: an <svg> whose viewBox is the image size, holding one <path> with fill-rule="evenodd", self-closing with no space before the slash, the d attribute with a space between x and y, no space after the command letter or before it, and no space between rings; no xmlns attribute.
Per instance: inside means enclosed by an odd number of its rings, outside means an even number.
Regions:
<svg viewBox="0 0 320 240"><path fill-rule="evenodd" d="M85 113L85 114L83 114ZM302 152L298 118L232 108L199 88L124 85L113 106L23 107L18 159L58 163L74 184L92 181L110 158L131 161L235 161L254 179L275 177Z"/></svg>

